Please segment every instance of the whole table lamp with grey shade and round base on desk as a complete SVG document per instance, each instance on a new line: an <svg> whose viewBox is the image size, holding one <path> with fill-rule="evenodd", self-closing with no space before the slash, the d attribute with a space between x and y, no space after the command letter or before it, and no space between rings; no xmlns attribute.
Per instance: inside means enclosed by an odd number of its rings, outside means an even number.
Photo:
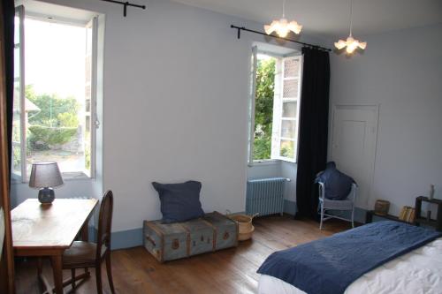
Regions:
<svg viewBox="0 0 442 294"><path fill-rule="evenodd" d="M41 203L52 203L55 199L55 192L52 187L57 185L63 185L63 178L57 162L35 162L32 164L29 186L40 188L38 200Z"/></svg>

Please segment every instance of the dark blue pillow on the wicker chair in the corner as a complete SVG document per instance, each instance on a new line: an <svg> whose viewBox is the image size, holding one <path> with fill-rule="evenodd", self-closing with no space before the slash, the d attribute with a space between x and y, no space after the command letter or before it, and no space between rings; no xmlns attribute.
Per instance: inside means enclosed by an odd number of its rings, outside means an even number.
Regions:
<svg viewBox="0 0 442 294"><path fill-rule="evenodd" d="M355 183L353 177L348 177L336 169L335 162L328 162L325 170L317 175L315 182L324 183L325 198L330 200L346 200Z"/></svg>

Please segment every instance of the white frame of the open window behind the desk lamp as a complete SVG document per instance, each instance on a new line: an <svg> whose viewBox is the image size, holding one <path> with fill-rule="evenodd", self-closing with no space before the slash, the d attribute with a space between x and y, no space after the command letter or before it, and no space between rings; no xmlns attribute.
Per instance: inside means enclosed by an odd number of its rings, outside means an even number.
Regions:
<svg viewBox="0 0 442 294"><path fill-rule="evenodd" d="M11 170L11 182L13 184L16 183L24 183L28 182L27 175L27 125L26 125L26 117L25 117L25 109L26 109L26 84L25 84L25 27L24 21L25 19L37 19L42 21L50 21L64 25L70 26L80 26L85 28L92 29L92 57L91 57L91 102L90 102L90 175L85 174L83 171L73 171L73 172L62 172L64 180L72 180L72 179L87 179L87 178L95 178L96 174L96 129L100 126L98 121L96 109L97 109L97 48L98 48L98 16L94 16L87 24L79 22L75 19L65 19L59 18L57 15L50 15L50 20L48 19L48 15L40 16L34 15L32 13L25 12L25 7L23 5L19 5L16 7L16 16L19 16L19 43L15 44L15 48L19 48L19 100L20 100L20 142L18 143L20 146L20 165L21 165L21 175L15 174L13 170ZM13 143L12 143L13 144Z"/></svg>

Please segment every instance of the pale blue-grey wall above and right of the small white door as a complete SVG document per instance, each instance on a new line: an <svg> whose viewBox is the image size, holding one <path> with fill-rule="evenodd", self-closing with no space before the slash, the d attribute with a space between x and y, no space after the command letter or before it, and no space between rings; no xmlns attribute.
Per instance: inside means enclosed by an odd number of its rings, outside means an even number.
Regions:
<svg viewBox="0 0 442 294"><path fill-rule="evenodd" d="M370 200L397 215L430 184L442 198L442 25L361 39L362 54L331 54L331 106L380 105Z"/></svg>

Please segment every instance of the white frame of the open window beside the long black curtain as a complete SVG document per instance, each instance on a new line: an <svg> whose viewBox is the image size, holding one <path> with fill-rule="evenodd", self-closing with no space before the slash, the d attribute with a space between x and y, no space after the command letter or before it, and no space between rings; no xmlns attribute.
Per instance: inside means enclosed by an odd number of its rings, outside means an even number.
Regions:
<svg viewBox="0 0 442 294"><path fill-rule="evenodd" d="M275 89L273 97L273 117L272 117L272 135L271 135L271 159L254 160L254 143L255 143L255 99L256 99L256 71L257 71L257 53L263 53L271 57L277 58L275 69ZM284 77L284 62L288 59L299 60L299 72L296 77ZM249 117L249 147L248 147L248 165L252 166L255 163L271 163L278 161L285 162L297 162L298 157L298 139L299 139L299 117L301 109L301 81L302 81L302 56L288 56L279 57L269 52L259 51L256 47L252 49L252 72L251 72L251 103L250 103L250 117ZM297 97L283 97L284 81L286 80L298 80L298 96ZM282 117L284 102L296 102L296 117ZM293 138L281 137L281 124L283 121L295 122L294 136ZM294 142L293 157L286 157L280 155L280 142L281 139L290 140Z"/></svg>

